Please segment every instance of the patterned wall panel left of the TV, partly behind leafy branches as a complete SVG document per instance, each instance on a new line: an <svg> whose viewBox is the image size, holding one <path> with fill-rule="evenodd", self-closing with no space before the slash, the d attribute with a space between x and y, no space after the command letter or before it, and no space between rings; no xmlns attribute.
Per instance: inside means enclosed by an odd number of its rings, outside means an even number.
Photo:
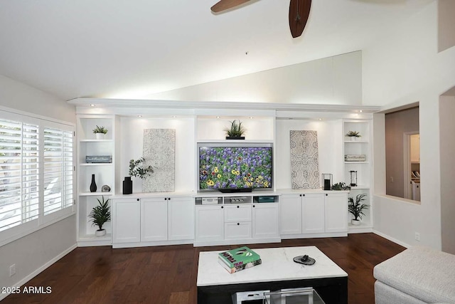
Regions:
<svg viewBox="0 0 455 304"><path fill-rule="evenodd" d="M142 192L173 192L176 169L176 130L144 130L144 157L146 166L154 173L142 182Z"/></svg>

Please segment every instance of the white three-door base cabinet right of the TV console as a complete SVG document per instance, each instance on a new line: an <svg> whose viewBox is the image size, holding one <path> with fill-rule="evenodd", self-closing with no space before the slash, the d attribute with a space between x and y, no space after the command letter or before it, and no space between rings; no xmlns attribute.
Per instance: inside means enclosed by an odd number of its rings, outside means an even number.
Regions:
<svg viewBox="0 0 455 304"><path fill-rule="evenodd" d="M282 194L280 218L282 239L346 236L347 192L310 190L306 193Z"/></svg>

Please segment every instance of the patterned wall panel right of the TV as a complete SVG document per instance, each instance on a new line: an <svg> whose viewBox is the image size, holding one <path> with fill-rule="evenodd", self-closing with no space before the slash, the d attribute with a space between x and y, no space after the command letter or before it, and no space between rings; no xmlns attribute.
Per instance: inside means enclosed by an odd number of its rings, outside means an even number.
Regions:
<svg viewBox="0 0 455 304"><path fill-rule="evenodd" d="M292 189L317 189L319 157L317 131L290 131Z"/></svg>

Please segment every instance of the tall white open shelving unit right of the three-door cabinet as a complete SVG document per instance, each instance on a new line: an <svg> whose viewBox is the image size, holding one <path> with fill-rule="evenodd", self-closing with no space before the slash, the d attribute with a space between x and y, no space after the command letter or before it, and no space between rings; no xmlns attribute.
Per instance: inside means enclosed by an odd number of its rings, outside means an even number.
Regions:
<svg viewBox="0 0 455 304"><path fill-rule="evenodd" d="M358 194L367 194L363 204L369 204L370 208L365 210L365 216L361 221L360 226L349 224L350 233L370 231L373 227L373 150L371 139L373 138L373 130L371 127L371 120L343 120L343 135L349 131L359 132L360 137L344 136L343 141L343 154L365 155L364 161L350 161L343 159L344 174L346 184L350 184L350 172L357 172L356 186L352 186L349 196L353 197ZM352 219L350 215L349 219Z"/></svg>

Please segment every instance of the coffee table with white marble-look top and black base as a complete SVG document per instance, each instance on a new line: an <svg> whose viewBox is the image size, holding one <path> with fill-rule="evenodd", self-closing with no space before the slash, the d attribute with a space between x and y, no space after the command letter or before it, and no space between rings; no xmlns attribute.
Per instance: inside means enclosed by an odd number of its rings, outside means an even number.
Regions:
<svg viewBox="0 0 455 304"><path fill-rule="evenodd" d="M313 287L327 303L348 303L348 273L316 246L253 249L262 264L228 273L218 264L218 253L203 251L198 263L198 303L232 303L232 294L248 290L279 290ZM307 254L316 259L312 266L293 261Z"/></svg>

